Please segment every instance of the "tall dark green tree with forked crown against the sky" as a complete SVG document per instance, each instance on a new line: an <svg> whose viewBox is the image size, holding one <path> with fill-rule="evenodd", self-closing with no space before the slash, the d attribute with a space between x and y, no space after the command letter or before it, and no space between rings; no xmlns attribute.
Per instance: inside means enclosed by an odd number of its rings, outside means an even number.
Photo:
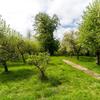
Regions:
<svg viewBox="0 0 100 100"><path fill-rule="evenodd" d="M50 17L46 13L39 13L35 17L35 31L37 38L41 42L44 51L50 55L58 49L58 41L54 39L53 32L59 25L59 19L56 15Z"/></svg>

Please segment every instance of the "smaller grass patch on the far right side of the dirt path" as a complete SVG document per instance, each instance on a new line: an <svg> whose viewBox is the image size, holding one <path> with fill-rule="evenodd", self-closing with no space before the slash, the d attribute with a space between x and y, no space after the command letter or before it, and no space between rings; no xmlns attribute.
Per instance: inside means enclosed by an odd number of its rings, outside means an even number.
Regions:
<svg viewBox="0 0 100 100"><path fill-rule="evenodd" d="M66 57L66 59L100 73L100 65L96 64L96 59L94 57L81 56L79 60L77 60L76 57Z"/></svg>

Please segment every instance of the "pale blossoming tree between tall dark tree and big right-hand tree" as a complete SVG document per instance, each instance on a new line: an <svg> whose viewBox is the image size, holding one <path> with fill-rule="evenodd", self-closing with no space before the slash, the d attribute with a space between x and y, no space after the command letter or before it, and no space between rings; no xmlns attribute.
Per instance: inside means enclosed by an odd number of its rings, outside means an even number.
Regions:
<svg viewBox="0 0 100 100"><path fill-rule="evenodd" d="M79 57L82 45L79 43L78 39L78 32L67 32L64 34L61 46L62 48L65 48L70 55L77 55L77 57Z"/></svg>

